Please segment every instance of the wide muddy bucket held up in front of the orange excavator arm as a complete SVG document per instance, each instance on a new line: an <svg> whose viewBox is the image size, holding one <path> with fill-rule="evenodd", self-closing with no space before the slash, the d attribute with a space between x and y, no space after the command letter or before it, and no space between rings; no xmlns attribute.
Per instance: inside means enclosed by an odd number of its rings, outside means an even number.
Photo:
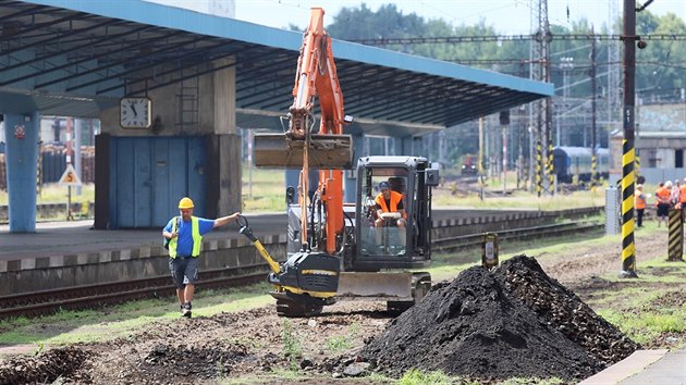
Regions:
<svg viewBox="0 0 686 385"><path fill-rule="evenodd" d="M302 169L305 140L285 134L255 135L254 158L258 167ZM341 170L353 166L353 139L350 135L313 134L308 163L311 169Z"/></svg>

